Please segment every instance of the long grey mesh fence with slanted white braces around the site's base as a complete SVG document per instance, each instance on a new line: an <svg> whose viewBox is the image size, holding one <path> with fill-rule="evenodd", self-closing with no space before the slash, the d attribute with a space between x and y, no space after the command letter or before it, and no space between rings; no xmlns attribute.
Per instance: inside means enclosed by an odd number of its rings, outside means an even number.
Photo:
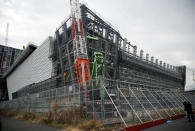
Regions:
<svg viewBox="0 0 195 131"><path fill-rule="evenodd" d="M16 112L44 113L58 105L58 110L84 106L86 119L101 120L104 124L123 123L125 126L184 114L183 102L194 106L194 95L177 90L124 86L121 82L106 81L106 85L78 84L47 88L36 93L1 102L0 107Z"/></svg>

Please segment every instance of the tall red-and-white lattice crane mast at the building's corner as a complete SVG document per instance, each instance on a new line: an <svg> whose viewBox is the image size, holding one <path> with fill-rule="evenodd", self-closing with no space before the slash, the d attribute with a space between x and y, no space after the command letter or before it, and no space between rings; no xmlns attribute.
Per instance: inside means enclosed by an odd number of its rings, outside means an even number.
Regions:
<svg viewBox="0 0 195 131"><path fill-rule="evenodd" d="M79 0L70 0L72 17L72 41L77 79L80 86L90 84L89 59Z"/></svg>

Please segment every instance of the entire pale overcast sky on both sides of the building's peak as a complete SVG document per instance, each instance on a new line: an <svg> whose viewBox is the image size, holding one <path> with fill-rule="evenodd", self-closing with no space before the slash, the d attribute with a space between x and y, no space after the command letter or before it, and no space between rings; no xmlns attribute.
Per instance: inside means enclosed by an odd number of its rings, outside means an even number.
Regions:
<svg viewBox="0 0 195 131"><path fill-rule="evenodd" d="M81 0L138 49L173 65L195 68L195 0ZM0 0L0 44L40 45L70 13L69 0ZM191 79L190 75L190 79ZM191 80L192 82L192 80Z"/></svg>

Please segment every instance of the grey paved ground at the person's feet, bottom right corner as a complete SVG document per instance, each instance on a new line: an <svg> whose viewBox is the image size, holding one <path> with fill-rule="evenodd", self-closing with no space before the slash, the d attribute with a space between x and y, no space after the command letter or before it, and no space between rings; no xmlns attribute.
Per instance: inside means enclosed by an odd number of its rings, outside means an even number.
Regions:
<svg viewBox="0 0 195 131"><path fill-rule="evenodd" d="M182 118L143 131L195 131L195 122L188 122L187 118Z"/></svg>

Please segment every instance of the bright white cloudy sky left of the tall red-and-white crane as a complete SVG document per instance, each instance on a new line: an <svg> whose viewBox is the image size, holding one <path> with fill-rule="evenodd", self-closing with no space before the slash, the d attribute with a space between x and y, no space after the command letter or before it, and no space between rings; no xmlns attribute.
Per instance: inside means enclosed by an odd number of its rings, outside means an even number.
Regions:
<svg viewBox="0 0 195 131"><path fill-rule="evenodd" d="M46 37L54 35L55 29L68 15L66 6L65 2L50 1L48 4L47 0L0 1L0 43L4 42L2 37L6 23L9 23L10 46L22 48L29 41L40 45Z"/></svg>

